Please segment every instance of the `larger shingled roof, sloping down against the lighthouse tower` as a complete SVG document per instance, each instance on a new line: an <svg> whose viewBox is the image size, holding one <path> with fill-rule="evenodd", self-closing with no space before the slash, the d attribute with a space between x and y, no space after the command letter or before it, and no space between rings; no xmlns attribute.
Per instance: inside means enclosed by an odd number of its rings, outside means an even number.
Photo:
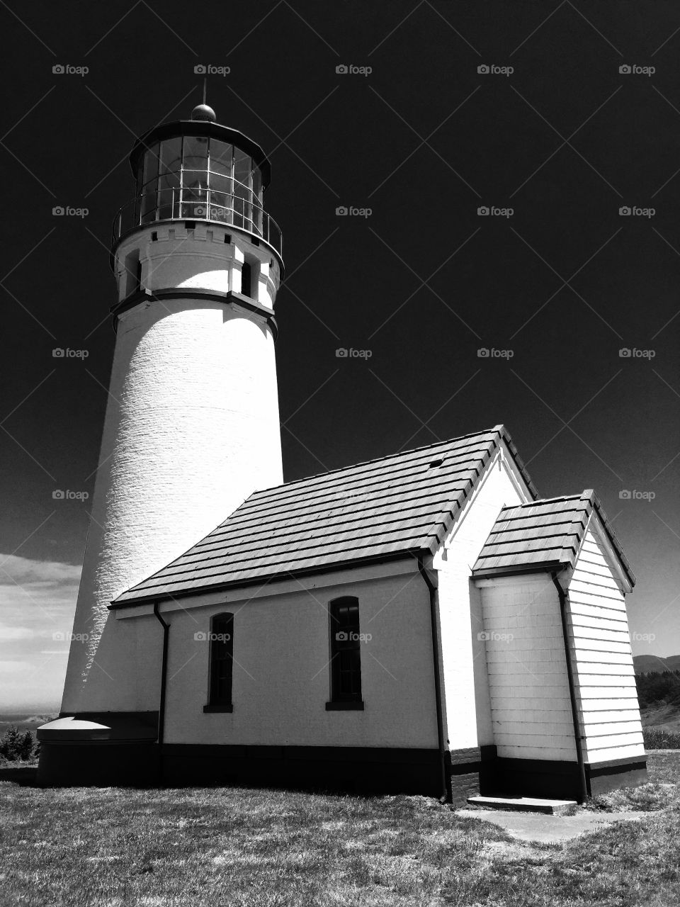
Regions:
<svg viewBox="0 0 680 907"><path fill-rule="evenodd" d="M255 492L112 607L408 552L434 553L501 441L538 496L510 435L496 425Z"/></svg>

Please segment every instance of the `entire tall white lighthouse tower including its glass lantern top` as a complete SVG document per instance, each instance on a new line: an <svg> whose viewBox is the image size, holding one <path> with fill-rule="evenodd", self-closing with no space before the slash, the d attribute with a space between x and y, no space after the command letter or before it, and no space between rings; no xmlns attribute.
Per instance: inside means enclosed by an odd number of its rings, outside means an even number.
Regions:
<svg viewBox="0 0 680 907"><path fill-rule="evenodd" d="M283 481L283 261L262 203L267 157L204 103L143 135L130 163L136 191L113 227L116 344L63 694L72 716L158 707L145 634L114 619L112 599L256 488Z"/></svg>

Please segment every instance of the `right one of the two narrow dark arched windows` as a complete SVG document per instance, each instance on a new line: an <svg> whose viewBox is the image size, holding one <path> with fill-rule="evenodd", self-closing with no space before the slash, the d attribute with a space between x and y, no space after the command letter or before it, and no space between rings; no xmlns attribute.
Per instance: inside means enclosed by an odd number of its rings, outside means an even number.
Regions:
<svg viewBox="0 0 680 907"><path fill-rule="evenodd" d="M363 709L359 600L352 596L329 605L331 637L331 701L327 711Z"/></svg>

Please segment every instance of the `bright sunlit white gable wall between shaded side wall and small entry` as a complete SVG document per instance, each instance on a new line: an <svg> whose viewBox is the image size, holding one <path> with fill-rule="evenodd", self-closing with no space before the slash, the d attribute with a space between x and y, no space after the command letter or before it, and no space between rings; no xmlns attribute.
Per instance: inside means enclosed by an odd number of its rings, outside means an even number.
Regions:
<svg viewBox="0 0 680 907"><path fill-rule="evenodd" d="M501 507L529 500L503 444L433 561L439 572L442 687L451 749L494 742L486 650L479 638L481 595L471 582L471 567Z"/></svg>

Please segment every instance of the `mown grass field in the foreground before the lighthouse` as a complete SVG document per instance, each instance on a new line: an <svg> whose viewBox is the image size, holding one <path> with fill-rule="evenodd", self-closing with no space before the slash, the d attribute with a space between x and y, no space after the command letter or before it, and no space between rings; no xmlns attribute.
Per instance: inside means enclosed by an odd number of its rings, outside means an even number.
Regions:
<svg viewBox="0 0 680 907"><path fill-rule="evenodd" d="M424 797L3 781L0 903L667 907L680 891L680 752L649 766L647 795L635 793L648 817L559 845L513 842Z"/></svg>

